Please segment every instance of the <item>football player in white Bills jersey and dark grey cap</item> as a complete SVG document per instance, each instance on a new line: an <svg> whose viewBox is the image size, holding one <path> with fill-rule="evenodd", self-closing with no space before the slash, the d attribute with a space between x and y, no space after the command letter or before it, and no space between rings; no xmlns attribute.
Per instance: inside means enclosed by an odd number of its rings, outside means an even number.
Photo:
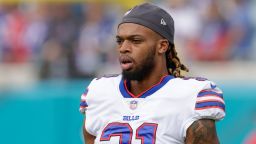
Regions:
<svg viewBox="0 0 256 144"><path fill-rule="evenodd" d="M174 47L174 21L151 3L117 27L122 74L92 80L82 94L86 144L217 144L222 91L188 71Z"/></svg>

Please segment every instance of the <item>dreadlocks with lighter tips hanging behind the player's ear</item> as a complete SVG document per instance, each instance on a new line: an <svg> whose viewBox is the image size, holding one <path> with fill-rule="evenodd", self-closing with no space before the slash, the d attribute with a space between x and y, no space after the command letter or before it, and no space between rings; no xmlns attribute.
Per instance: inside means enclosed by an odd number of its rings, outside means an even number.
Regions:
<svg viewBox="0 0 256 144"><path fill-rule="evenodd" d="M180 58L177 55L174 44L170 44L168 50L166 51L166 65L168 73L174 77L184 77L181 71L188 72L188 68L180 62Z"/></svg>

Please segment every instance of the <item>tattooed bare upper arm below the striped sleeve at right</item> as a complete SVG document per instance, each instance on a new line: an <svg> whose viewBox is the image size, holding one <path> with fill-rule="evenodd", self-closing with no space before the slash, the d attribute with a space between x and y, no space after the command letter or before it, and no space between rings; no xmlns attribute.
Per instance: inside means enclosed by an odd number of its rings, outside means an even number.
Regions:
<svg viewBox="0 0 256 144"><path fill-rule="evenodd" d="M215 121L211 119L195 121L187 130L185 144L219 144Z"/></svg>

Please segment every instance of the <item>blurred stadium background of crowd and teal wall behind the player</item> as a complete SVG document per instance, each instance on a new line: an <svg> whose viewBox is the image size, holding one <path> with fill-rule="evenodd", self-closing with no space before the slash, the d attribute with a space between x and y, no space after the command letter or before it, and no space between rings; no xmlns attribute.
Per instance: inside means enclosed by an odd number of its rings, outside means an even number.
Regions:
<svg viewBox="0 0 256 144"><path fill-rule="evenodd" d="M0 0L0 144L82 144L80 94L119 73L116 25L144 0ZM256 1L151 0L189 76L224 91L223 144L256 144Z"/></svg>

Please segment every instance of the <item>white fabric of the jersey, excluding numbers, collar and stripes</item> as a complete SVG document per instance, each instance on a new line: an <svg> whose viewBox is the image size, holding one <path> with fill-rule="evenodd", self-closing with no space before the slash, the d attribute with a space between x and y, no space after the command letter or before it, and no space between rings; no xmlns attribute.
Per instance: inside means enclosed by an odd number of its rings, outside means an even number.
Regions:
<svg viewBox="0 0 256 144"><path fill-rule="evenodd" d="M120 81L120 75L94 79L88 87L87 95L82 95L82 100L88 104L88 107L81 109L86 114L85 127L90 134L96 136L95 144L119 144L119 136L111 136L110 141L100 141L104 128L113 122L130 125L133 132L132 144L141 144L136 130L143 123L157 125L155 144L183 144L186 130L194 121L202 118L220 120L225 116L224 110L219 108L195 109L196 102L202 100L223 101L213 95L197 97L202 90L212 89L211 81L173 78L146 98L124 98L119 90ZM218 87L212 91L222 93ZM134 110L130 108L133 100L137 101ZM124 116L130 116L130 120Z"/></svg>

